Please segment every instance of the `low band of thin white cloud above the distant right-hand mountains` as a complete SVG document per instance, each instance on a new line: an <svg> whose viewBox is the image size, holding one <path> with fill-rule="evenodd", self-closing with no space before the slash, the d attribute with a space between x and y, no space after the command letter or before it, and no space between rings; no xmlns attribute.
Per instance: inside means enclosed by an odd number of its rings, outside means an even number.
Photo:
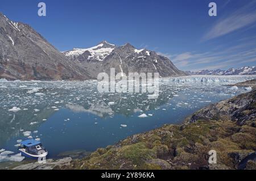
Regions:
<svg viewBox="0 0 256 181"><path fill-rule="evenodd" d="M181 70L226 69L234 66L256 65L256 44L247 43L205 53L184 52L171 56L172 62ZM246 47L246 48L241 48Z"/></svg>

